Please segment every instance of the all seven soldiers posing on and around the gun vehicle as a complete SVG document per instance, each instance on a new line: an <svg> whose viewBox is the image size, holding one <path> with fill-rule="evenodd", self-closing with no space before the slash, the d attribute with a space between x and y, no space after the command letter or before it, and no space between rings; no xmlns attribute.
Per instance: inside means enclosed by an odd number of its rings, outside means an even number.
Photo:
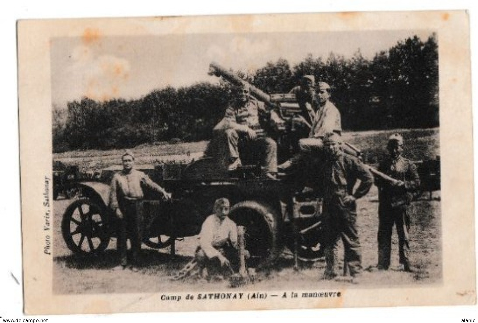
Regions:
<svg viewBox="0 0 478 323"><path fill-rule="evenodd" d="M369 167L350 153L341 137L340 113L330 102L331 88L325 82L315 84L314 76L305 75L299 86L294 87L301 108L295 118L300 125L298 153L289 161L277 164L277 144L266 136L258 135L260 114L266 111L262 102L250 95L248 87L240 89L239 95L227 108L224 118L213 129L206 156L213 156L222 162L228 171L234 171L241 160L248 158L247 151L259 162L269 180L275 180L278 172L291 172L306 156L319 152L325 156L317 165L316 181L320 181L324 197L324 253L326 269L324 280L337 278L337 246L341 239L344 246L344 266L353 282L359 282L363 267L357 228L357 199L366 195L372 184L379 187L379 229L378 265L373 270L387 270L391 265L391 236L395 225L399 237L399 256L401 270L414 269L409 257L408 229L410 218L408 207L412 192L419 185L416 167L402 156L403 138L400 134L391 135L387 143L389 155L380 162L379 171L389 175L394 182L384 181L372 176ZM270 112L269 112L270 113ZM274 112L270 113L272 124L280 126L283 122ZM241 144L246 149L241 149ZM127 152L122 156L123 170L115 174L111 183L111 208L120 221L118 251L120 264L115 269L128 268L126 255L126 233L129 228L131 239L130 268L137 271L138 252L141 248L141 217L135 209L136 200L142 198L141 183L171 198L171 194L153 183L147 175L134 169L134 156ZM314 179L313 179L314 180ZM356 183L359 182L359 185ZM355 188L357 186L357 188ZM238 231L235 223L228 218L230 203L226 198L216 201L214 213L206 218L199 235L196 259L200 273L208 276L208 271L228 271L231 262L236 262ZM132 234L131 234L132 233ZM246 252L246 256L248 253Z"/></svg>

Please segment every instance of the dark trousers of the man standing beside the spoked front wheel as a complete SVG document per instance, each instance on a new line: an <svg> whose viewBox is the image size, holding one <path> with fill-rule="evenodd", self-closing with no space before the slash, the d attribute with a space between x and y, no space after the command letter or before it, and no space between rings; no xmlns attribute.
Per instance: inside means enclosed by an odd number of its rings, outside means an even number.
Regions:
<svg viewBox="0 0 478 323"><path fill-rule="evenodd" d="M141 202L139 202L138 200L130 201L126 199L121 199L119 202L120 210L123 214L122 219L117 219L117 248L120 256L120 264L126 266L128 263L126 239L129 237L131 243L131 264L137 265L139 254L141 251L143 230Z"/></svg>

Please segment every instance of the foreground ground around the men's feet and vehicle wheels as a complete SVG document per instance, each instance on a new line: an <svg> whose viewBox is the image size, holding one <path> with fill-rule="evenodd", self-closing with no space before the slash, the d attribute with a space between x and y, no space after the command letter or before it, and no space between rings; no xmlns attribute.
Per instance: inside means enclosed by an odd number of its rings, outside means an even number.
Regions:
<svg viewBox="0 0 478 323"><path fill-rule="evenodd" d="M426 195L427 196L427 195ZM173 281L171 277L192 259L197 238L189 237L176 242L176 256L169 248L156 250L143 245L139 272L113 271L116 265L116 240L112 239L104 255L96 258L78 258L66 247L61 235L61 218L71 200L54 202L54 293L133 293L167 291L212 291L230 288L228 281L207 282L186 278ZM359 200L359 237L363 253L363 267L377 264L378 196L377 189ZM418 270L406 273L393 270L398 266L398 238L392 243L391 269L382 272L364 271L359 284L349 280L320 280L325 269L323 260L302 263L293 269L290 251L284 253L267 271L257 273L256 281L243 289L258 291L301 290L320 291L337 288L401 288L432 286L442 280L442 241L440 192L434 192L432 201L423 199L411 205L412 227L410 248L412 265Z"/></svg>

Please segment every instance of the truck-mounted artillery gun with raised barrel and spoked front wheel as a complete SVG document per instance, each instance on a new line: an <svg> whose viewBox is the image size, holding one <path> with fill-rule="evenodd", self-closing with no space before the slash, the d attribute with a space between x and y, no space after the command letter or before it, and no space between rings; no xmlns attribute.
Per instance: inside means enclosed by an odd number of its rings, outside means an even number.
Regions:
<svg viewBox="0 0 478 323"><path fill-rule="evenodd" d="M287 137L293 132L289 122L300 107L293 94L268 95L251 86L217 64L210 73L229 82L250 87L250 93L269 106L269 116L276 113L282 120L272 136L288 158L293 145ZM266 125L271 126L268 120ZM139 201L144 217L143 243L151 248L171 246L178 238L196 236L202 223L212 213L214 201L227 197L233 205L230 218L244 226L246 249L250 252L248 267L264 267L278 258L284 246L296 259L316 260L323 255L322 197L320 188L304 191L307 179L314 178L313 169L305 176L271 180L261 176L260 167L244 165L239 172L229 173L214 158L201 158L189 163L137 165L151 179L172 193L173 200L164 202L145 190ZM100 181L79 183L82 197L65 211L62 233L66 245L76 254L98 254L108 248L116 236L115 215L109 208L109 182L121 167L103 170Z"/></svg>

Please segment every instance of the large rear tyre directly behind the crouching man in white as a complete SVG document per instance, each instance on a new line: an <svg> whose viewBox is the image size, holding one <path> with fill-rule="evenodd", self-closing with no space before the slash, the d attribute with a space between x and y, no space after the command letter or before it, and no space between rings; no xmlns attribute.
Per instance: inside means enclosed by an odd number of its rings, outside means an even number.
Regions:
<svg viewBox="0 0 478 323"><path fill-rule="evenodd" d="M251 256L249 266L266 267L282 253L279 217L272 207L256 201L239 202L231 208L230 218L246 228L246 249Z"/></svg>

